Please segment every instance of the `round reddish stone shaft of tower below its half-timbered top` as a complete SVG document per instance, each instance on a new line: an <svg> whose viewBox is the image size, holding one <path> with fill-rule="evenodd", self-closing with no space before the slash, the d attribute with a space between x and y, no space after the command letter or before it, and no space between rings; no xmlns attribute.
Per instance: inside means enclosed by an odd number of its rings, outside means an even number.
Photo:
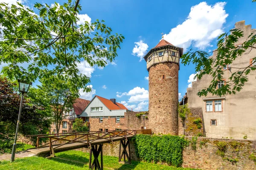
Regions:
<svg viewBox="0 0 256 170"><path fill-rule="evenodd" d="M148 119L153 133L178 134L178 71L179 65L172 62L149 68Z"/></svg>

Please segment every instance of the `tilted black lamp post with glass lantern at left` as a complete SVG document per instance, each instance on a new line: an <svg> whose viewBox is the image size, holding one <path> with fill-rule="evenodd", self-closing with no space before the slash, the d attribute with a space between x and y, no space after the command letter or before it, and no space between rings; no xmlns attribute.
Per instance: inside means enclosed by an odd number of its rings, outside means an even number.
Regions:
<svg viewBox="0 0 256 170"><path fill-rule="evenodd" d="M26 82L20 81L20 79L18 79L18 82L19 82L19 91L21 92L21 100L20 100L20 110L19 110L19 116L18 116L18 121L17 121L16 133L15 133L15 140L14 140L14 144L12 146L11 162L14 161L14 159L15 159L15 151L16 151L16 146L17 146L16 142L17 142L19 125L20 125L20 113L21 113L21 108L22 108L23 96L25 93L28 92L29 86L32 85L32 82L27 84Z"/></svg>

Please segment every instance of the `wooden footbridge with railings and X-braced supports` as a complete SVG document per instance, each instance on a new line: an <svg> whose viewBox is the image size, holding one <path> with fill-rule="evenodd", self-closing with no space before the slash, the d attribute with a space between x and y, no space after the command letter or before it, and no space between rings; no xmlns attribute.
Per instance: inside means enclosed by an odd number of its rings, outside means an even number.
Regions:
<svg viewBox="0 0 256 170"><path fill-rule="evenodd" d="M126 157L128 163L131 163L129 139L138 133L151 134L151 130L110 130L29 135L27 137L37 137L37 146L27 151L35 153L38 156L55 156L54 154L57 152L86 147L90 149L89 167L95 170L103 170L103 144L120 141L119 161L124 158L124 162L126 162ZM42 138L48 139L49 142L39 145L39 141ZM101 156L100 164L98 159L99 155ZM91 162L92 156L94 157L93 162Z"/></svg>

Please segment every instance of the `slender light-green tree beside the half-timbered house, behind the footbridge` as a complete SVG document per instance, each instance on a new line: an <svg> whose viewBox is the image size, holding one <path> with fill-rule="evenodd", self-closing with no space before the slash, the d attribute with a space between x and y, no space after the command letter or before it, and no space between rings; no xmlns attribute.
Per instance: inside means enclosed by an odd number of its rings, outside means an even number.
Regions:
<svg viewBox="0 0 256 170"><path fill-rule="evenodd" d="M77 89L72 91L70 82L62 75L41 79L40 82L37 96L51 108L52 121L55 122L56 132L59 133L62 119L65 118L65 113L73 107L79 91Z"/></svg>

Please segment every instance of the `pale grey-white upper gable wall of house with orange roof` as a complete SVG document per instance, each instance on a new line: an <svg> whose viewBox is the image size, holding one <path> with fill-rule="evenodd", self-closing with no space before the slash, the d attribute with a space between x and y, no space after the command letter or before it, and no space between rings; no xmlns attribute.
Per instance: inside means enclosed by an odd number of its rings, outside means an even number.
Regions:
<svg viewBox="0 0 256 170"><path fill-rule="evenodd" d="M91 112L93 107L102 107L102 111ZM125 116L126 110L112 110L110 111L97 97L90 102L90 104L81 113L81 117L91 116Z"/></svg>

